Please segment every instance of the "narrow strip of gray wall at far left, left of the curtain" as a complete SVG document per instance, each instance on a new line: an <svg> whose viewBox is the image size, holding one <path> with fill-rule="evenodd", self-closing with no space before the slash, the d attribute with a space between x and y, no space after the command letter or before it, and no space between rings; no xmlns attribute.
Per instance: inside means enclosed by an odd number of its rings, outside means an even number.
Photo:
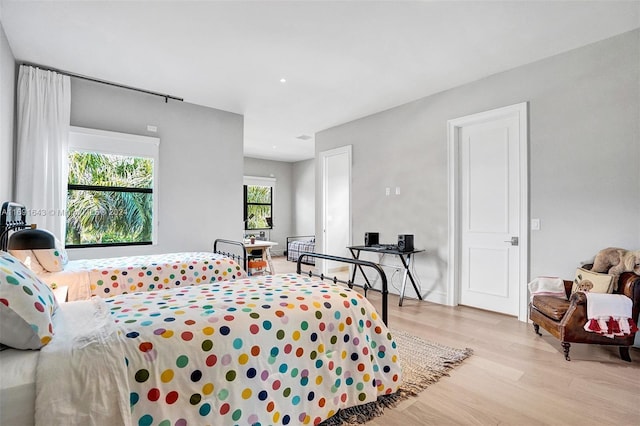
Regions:
<svg viewBox="0 0 640 426"><path fill-rule="evenodd" d="M13 196L16 60L0 24L0 203Z"/></svg>

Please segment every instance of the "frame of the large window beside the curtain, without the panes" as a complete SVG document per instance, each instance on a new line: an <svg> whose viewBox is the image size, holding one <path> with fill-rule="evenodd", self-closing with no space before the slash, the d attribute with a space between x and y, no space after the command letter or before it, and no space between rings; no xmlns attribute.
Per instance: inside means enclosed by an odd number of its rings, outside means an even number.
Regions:
<svg viewBox="0 0 640 426"><path fill-rule="evenodd" d="M89 191L115 191L138 192L152 194L152 225L151 241L118 242L97 244L69 244L66 248L100 248L100 247L124 247L140 245L156 245L158 243L158 172L159 172L160 139L150 136L140 136L128 133L111 132L106 130L90 129L85 127L70 126L68 152L92 152L98 154L113 154L126 157L142 157L153 160L153 176L150 188L132 187L107 187L97 185L69 184L67 178L67 194L70 190ZM68 161L68 156L67 156ZM67 163L68 165L68 163ZM68 196L68 195L67 195ZM67 206L68 209L68 206ZM65 235L66 240L66 235Z"/></svg>

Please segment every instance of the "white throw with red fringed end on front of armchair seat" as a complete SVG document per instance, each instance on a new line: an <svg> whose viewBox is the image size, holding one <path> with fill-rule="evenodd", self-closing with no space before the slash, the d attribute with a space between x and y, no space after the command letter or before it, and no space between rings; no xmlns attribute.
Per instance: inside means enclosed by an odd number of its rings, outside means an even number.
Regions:
<svg viewBox="0 0 640 426"><path fill-rule="evenodd" d="M587 323L586 331L602 334L606 337L627 336L638 331L631 318L633 302L622 294L586 293Z"/></svg>

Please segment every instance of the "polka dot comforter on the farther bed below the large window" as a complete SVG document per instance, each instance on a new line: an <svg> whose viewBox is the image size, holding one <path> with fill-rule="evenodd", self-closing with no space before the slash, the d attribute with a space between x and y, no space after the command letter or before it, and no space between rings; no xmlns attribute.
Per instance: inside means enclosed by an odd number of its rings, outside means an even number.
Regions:
<svg viewBox="0 0 640 426"><path fill-rule="evenodd" d="M68 286L73 301L226 281L247 273L221 254L183 252L72 260L61 272L38 276L49 285Z"/></svg>

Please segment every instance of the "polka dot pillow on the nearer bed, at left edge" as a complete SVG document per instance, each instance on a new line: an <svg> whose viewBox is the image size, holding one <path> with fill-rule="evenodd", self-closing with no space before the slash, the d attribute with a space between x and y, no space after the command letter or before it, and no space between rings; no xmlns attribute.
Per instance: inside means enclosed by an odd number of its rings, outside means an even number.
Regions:
<svg viewBox="0 0 640 426"><path fill-rule="evenodd" d="M51 289L9 253L0 252L0 343L40 349L53 338L58 302Z"/></svg>

